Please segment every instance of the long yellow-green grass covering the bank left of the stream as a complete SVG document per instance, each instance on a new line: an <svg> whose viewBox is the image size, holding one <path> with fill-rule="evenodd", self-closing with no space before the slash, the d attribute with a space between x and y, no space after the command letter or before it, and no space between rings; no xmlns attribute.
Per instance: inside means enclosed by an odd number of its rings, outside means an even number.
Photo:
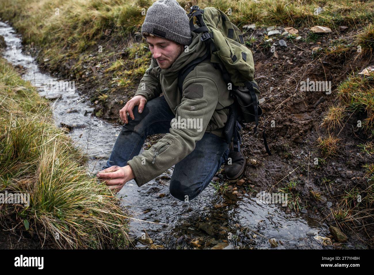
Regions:
<svg viewBox="0 0 374 275"><path fill-rule="evenodd" d="M60 248L127 245L118 200L85 170L48 104L0 59L0 192L30 193L30 205L0 204L3 224Z"/></svg>

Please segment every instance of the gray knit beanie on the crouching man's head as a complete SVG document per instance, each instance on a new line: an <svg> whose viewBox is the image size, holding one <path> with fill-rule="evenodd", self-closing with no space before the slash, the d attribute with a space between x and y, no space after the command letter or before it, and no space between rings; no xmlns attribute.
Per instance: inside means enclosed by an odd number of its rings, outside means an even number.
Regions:
<svg viewBox="0 0 374 275"><path fill-rule="evenodd" d="M145 14L141 33L153 34L165 39L190 45L192 41L186 11L175 0L158 0Z"/></svg>

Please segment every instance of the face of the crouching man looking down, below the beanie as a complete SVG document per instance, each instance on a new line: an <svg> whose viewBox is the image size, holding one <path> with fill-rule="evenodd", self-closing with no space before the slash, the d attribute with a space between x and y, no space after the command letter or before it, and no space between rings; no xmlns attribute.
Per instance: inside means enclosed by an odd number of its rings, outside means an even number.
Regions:
<svg viewBox="0 0 374 275"><path fill-rule="evenodd" d="M158 36L147 36L147 43L157 64L162 69L170 68L183 52L183 45Z"/></svg>

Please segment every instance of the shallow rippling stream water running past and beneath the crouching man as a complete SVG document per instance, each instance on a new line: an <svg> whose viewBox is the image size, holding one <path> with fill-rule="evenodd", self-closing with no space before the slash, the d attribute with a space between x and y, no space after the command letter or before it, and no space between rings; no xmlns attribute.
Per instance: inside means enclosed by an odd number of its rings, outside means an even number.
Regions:
<svg viewBox="0 0 374 275"><path fill-rule="evenodd" d="M24 67L22 77L51 100L56 125L72 127L68 135L89 156L87 169L94 175L109 157L121 125L91 115L93 107L79 94L78 85L73 91L49 91L48 83L61 79L39 70L35 59L24 51L21 35L7 22L0 22L0 36L7 45L4 58L14 66ZM171 174L172 168L142 187L129 181L118 193L123 206L141 220L130 222L130 234L137 240L132 247L149 247L148 238L144 240L146 233L154 244L165 248L205 248L215 244L229 244L225 249L334 248L315 239L316 234L329 235L325 223L306 214L287 214L278 205L257 202L246 194L227 202L215 195L214 187L209 185L191 202L181 202L169 193ZM355 248L355 244L347 243L345 247Z"/></svg>

